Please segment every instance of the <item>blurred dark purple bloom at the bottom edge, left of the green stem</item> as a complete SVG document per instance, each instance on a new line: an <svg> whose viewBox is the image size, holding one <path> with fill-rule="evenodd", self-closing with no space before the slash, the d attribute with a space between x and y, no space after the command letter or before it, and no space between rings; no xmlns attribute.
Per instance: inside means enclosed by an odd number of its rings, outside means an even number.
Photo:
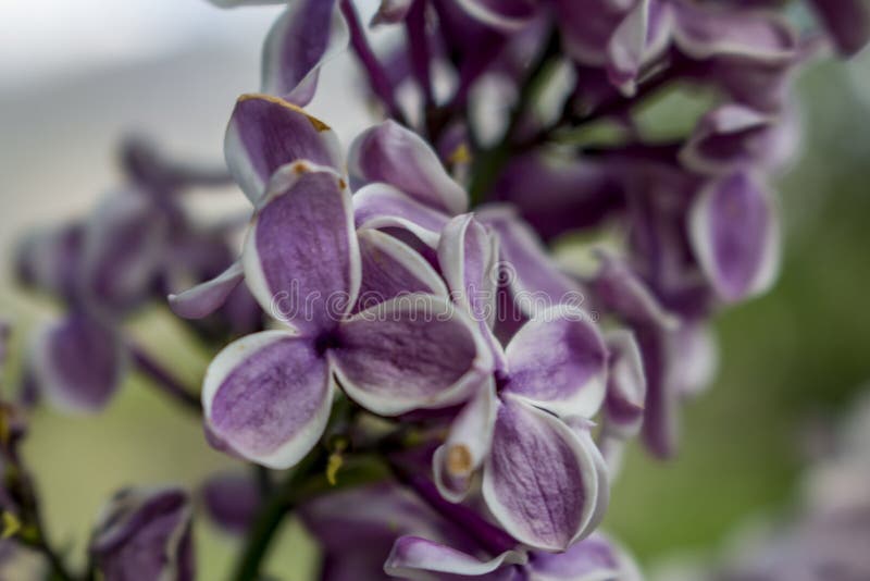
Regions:
<svg viewBox="0 0 870 581"><path fill-rule="evenodd" d="M90 554L107 581L195 577L191 508L177 489L128 489L104 508Z"/></svg>

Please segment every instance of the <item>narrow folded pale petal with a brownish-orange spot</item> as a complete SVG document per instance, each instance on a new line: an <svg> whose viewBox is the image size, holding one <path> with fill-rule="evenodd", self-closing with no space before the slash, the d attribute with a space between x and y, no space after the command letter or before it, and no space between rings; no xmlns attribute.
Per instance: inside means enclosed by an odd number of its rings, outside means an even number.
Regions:
<svg viewBox="0 0 870 581"><path fill-rule="evenodd" d="M451 503L465 497L472 474L489 454L495 421L495 382L489 378L457 415L447 441L432 457L435 484Z"/></svg>

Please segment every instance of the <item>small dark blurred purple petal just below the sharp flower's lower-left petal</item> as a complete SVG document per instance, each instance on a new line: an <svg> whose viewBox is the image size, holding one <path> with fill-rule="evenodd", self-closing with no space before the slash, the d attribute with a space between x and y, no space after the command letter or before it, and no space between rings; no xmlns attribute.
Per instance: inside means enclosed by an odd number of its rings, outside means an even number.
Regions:
<svg viewBox="0 0 870 581"><path fill-rule="evenodd" d="M250 528L262 500L250 472L215 474L202 486L201 494L209 518L234 534L244 534Z"/></svg>

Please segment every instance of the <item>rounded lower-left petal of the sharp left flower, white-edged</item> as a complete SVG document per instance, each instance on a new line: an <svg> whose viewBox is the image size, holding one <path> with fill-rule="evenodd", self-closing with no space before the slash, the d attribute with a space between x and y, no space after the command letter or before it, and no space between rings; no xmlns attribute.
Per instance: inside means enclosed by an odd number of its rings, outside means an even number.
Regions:
<svg viewBox="0 0 870 581"><path fill-rule="evenodd" d="M209 364L202 409L215 436L275 469L301 460L330 417L334 382L314 342L281 331L248 335Z"/></svg>

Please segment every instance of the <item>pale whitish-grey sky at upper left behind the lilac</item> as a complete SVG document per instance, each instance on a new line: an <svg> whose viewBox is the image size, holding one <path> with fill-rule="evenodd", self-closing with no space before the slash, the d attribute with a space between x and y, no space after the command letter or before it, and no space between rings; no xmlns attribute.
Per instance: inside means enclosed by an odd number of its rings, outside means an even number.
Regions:
<svg viewBox="0 0 870 581"><path fill-rule="evenodd" d="M366 18L376 0L358 2ZM259 88L260 49L282 7L206 0L0 1L0 271L34 225L86 211L117 185L119 139L144 133L181 159L223 162L236 97ZM310 110L344 145L370 121L349 55ZM219 205L245 208L241 195ZM2 284L0 284L2 286Z"/></svg>

